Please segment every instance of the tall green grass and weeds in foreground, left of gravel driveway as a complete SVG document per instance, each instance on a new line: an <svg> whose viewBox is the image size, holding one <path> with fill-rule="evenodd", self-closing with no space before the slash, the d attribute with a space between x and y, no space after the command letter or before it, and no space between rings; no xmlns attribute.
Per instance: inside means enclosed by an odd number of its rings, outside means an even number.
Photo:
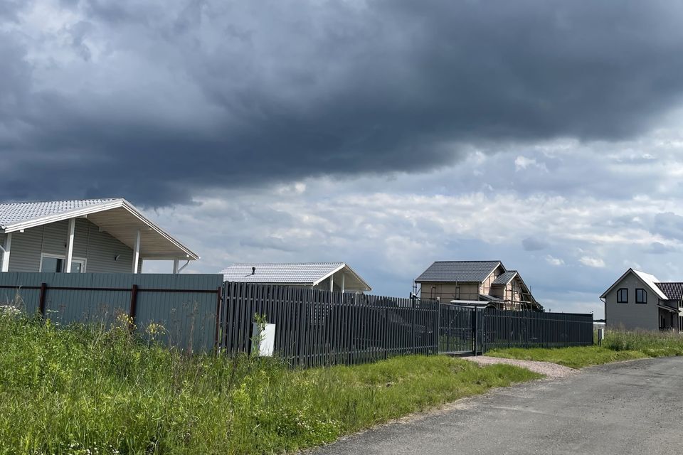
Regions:
<svg viewBox="0 0 683 455"><path fill-rule="evenodd" d="M290 370L0 314L0 454L269 454L538 378L445 356Z"/></svg>

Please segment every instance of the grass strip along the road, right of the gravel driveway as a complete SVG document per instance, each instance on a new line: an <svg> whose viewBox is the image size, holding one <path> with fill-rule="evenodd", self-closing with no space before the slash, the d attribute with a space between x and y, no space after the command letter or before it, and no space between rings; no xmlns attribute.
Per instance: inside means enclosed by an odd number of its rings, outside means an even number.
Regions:
<svg viewBox="0 0 683 455"><path fill-rule="evenodd" d="M493 357L542 360L571 368L665 355L683 355L683 336L666 332L608 331L603 346L576 348L509 348L486 353Z"/></svg>

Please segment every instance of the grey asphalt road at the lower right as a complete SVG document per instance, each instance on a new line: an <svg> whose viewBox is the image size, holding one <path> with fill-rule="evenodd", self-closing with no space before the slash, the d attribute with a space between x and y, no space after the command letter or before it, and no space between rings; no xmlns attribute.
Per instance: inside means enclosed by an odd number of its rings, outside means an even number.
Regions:
<svg viewBox="0 0 683 455"><path fill-rule="evenodd" d="M680 454L683 357L586 368L461 400L313 451L341 454Z"/></svg>

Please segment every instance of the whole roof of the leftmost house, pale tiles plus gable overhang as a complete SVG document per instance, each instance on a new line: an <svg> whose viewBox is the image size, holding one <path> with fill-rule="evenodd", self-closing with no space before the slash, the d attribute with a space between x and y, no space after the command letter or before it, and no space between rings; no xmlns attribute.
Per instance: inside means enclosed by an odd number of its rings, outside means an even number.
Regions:
<svg viewBox="0 0 683 455"><path fill-rule="evenodd" d="M0 232L19 232L70 218L88 218L130 248L139 231L142 259L199 259L122 198L0 203Z"/></svg>

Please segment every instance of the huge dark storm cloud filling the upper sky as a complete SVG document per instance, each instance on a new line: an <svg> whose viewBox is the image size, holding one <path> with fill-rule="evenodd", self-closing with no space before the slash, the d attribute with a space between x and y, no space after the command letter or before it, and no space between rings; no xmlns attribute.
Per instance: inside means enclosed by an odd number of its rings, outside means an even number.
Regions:
<svg viewBox="0 0 683 455"><path fill-rule="evenodd" d="M479 141L640 134L683 91L669 2L60 4L78 20L0 41L1 199L428 170Z"/></svg>

